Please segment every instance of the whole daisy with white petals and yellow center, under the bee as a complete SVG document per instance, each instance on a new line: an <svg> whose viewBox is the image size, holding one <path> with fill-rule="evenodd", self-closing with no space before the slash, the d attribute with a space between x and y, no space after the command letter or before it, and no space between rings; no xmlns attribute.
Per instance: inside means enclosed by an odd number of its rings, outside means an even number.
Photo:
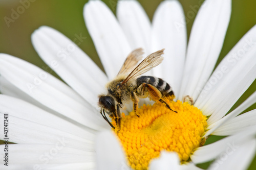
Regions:
<svg viewBox="0 0 256 170"><path fill-rule="evenodd" d="M84 18L106 75L58 31L44 26L32 35L39 56L68 85L1 54L1 118L8 115L7 137L17 143L7 145L8 169L198 169L195 164L214 159L210 169L248 167L256 110L239 114L256 93L226 113L255 80L256 28L214 70L230 13L231 1L206 0L187 45L178 1L162 2L152 23L136 1L119 1L117 19L104 3L90 1ZM126 109L122 129L114 131L99 114L97 95L138 47L146 55L165 48L164 62L147 75L170 83L176 99L168 104L178 114L159 103L143 105L140 117ZM210 135L228 137L203 146Z"/></svg>

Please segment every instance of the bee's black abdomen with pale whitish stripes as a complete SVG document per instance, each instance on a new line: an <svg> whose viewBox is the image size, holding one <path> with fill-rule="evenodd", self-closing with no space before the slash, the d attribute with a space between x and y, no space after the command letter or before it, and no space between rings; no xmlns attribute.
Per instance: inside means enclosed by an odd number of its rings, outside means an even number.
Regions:
<svg viewBox="0 0 256 170"><path fill-rule="evenodd" d="M165 82L163 79L156 78L153 76L141 76L136 80L137 86L139 87L143 83L151 84L155 86L163 96L174 95L172 87Z"/></svg>

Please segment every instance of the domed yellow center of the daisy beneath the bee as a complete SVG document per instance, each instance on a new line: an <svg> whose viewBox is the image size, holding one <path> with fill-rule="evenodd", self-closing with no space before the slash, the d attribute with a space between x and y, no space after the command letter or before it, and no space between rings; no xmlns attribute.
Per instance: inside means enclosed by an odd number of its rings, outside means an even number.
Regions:
<svg viewBox="0 0 256 170"><path fill-rule="evenodd" d="M133 169L147 169L162 150L177 152L181 161L187 161L203 142L206 116L188 103L166 101L178 113L160 102L143 105L138 110L140 117L133 111L126 116L123 114L120 129L115 129Z"/></svg>

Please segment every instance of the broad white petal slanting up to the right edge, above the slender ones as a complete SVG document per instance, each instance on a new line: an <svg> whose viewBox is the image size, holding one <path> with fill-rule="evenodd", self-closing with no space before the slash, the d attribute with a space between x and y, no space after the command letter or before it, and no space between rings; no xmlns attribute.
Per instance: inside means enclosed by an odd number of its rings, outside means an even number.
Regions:
<svg viewBox="0 0 256 170"><path fill-rule="evenodd" d="M256 78L256 26L218 65L195 106L211 115L210 125L222 118Z"/></svg>

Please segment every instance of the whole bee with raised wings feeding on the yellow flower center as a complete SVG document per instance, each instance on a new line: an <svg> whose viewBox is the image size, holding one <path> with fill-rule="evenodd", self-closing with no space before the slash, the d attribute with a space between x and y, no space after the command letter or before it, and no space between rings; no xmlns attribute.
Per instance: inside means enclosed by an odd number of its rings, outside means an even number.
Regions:
<svg viewBox="0 0 256 170"><path fill-rule="evenodd" d="M112 128L115 129L105 113L115 120L117 127L120 127L120 108L123 107L124 103L132 101L133 110L139 117L137 114L139 98L149 97L153 101L163 103L168 109L172 110L164 101L165 97L174 95L172 87L160 78L153 76L139 77L163 61L161 56L164 54L163 51L164 49L150 54L138 64L142 59L143 50L142 48L134 50L127 56L117 77L106 84L106 94L99 95L98 105L101 108L100 114Z"/></svg>

